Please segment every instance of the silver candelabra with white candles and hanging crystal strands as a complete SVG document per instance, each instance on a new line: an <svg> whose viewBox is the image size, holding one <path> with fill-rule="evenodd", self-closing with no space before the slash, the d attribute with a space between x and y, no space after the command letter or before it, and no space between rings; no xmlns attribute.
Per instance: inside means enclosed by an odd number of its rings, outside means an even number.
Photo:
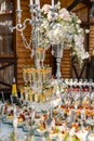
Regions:
<svg viewBox="0 0 94 141"><path fill-rule="evenodd" d="M17 10L16 10L16 15L17 15L17 24L13 29L16 29L17 31L21 33L21 37L23 39L23 43L26 49L31 50L31 57L35 55L36 48L39 47L39 28L42 24L42 18L41 18L41 9L40 9L40 0L29 0L29 11L30 11L30 17L31 18L25 18L25 21L22 23L22 12L23 10L21 9L21 0L17 0ZM52 13L54 12L54 0L52 0ZM27 41L24 30L27 28L27 23L31 25L31 31L30 31L30 38L29 41ZM42 35L41 35L41 40L42 40ZM42 47L42 44L41 44Z"/></svg>

